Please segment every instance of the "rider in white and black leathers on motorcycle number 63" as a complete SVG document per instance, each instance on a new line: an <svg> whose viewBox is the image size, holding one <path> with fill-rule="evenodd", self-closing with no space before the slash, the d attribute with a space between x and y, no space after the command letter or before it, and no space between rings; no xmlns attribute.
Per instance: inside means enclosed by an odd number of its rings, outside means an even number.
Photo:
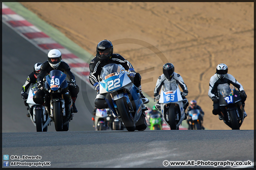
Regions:
<svg viewBox="0 0 256 170"><path fill-rule="evenodd" d="M182 77L180 74L177 74L174 72L174 65L172 63L165 63L163 66L163 74L159 76L158 80L156 81L156 86L154 89L154 97L155 100L160 99L159 91L161 87L163 89L169 89L172 90L173 87L170 86L171 83L174 83L175 85L180 85L183 92L181 92L181 96L183 98L183 108L184 112L186 111L186 108L188 106L188 100L185 96L188 94L187 86L184 83ZM159 101L155 104L155 107L160 110L161 105ZM187 119L187 115L185 114L184 120Z"/></svg>

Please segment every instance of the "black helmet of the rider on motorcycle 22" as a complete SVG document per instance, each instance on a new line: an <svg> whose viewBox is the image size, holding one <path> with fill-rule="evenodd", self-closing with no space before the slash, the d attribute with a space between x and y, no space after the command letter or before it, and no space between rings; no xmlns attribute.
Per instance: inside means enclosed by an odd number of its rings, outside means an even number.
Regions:
<svg viewBox="0 0 256 170"><path fill-rule="evenodd" d="M96 47L96 57L100 60L107 60L113 55L113 45L111 41L102 40L98 43ZM107 54L100 54L100 52L108 52Z"/></svg>

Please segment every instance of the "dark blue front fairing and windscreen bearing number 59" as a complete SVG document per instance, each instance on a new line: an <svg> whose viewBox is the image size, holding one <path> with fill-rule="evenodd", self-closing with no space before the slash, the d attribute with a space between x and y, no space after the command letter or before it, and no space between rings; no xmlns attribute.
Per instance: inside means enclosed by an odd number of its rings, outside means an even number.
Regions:
<svg viewBox="0 0 256 170"><path fill-rule="evenodd" d="M66 79L66 74L60 70L52 70L46 76L46 81L50 86L50 89L56 91L59 89L60 84Z"/></svg>

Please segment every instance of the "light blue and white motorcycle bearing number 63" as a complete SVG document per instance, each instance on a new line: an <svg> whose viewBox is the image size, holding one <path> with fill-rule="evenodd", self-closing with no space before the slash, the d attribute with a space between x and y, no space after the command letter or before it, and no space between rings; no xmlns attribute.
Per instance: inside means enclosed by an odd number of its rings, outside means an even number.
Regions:
<svg viewBox="0 0 256 170"><path fill-rule="evenodd" d="M179 125L185 118L181 91L178 85L172 84L172 90L161 89L159 103L161 104L161 115L171 130L178 130Z"/></svg>

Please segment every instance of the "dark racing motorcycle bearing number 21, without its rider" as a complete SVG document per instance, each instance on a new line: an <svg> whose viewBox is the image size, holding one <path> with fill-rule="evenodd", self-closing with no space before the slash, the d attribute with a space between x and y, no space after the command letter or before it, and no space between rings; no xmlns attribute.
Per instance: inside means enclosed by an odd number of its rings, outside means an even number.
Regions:
<svg viewBox="0 0 256 170"><path fill-rule="evenodd" d="M219 90L219 106L224 123L232 130L239 130L244 121L244 107L233 85L226 84Z"/></svg>

